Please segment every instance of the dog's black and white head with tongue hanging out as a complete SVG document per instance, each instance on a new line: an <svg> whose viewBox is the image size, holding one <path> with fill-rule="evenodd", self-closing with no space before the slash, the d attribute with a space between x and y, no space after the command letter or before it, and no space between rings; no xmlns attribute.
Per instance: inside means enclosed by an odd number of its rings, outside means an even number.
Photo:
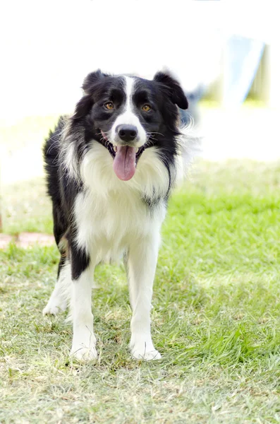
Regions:
<svg viewBox="0 0 280 424"><path fill-rule="evenodd" d="M162 72L149 81L96 71L85 78L83 90L73 122L85 119L88 139L108 150L114 171L123 180L133 177L145 149L166 148L166 141L178 134L177 105L188 107L181 86Z"/></svg>

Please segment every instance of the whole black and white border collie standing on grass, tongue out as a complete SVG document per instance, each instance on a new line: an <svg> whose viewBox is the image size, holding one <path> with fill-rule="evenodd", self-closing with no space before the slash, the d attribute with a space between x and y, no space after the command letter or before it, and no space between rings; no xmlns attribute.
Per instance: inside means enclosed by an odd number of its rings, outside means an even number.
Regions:
<svg viewBox="0 0 280 424"><path fill-rule="evenodd" d="M97 358L93 330L95 266L123 255L133 358L160 358L150 331L152 285L160 228L185 162L178 107L188 101L178 82L159 72L152 81L96 71L83 83L71 117L61 117L44 145L59 272L44 314L71 305L71 355ZM188 146L187 146L188 153Z"/></svg>

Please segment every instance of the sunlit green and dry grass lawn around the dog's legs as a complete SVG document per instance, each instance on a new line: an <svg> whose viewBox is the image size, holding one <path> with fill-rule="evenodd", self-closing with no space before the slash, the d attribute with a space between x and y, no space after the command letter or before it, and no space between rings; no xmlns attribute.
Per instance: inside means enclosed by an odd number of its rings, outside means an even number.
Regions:
<svg viewBox="0 0 280 424"><path fill-rule="evenodd" d="M56 248L0 251L0 423L279 423L279 186L276 163L200 163L174 194L154 283L154 363L130 359L122 268L97 269L99 360L81 365L68 358L66 315L42 317ZM51 231L42 181L4 199L17 211L6 231Z"/></svg>

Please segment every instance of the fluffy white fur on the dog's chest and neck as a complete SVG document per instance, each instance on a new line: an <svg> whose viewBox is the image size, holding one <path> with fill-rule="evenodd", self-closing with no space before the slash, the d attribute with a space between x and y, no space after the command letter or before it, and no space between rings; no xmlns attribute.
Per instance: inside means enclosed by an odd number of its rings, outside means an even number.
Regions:
<svg viewBox="0 0 280 424"><path fill-rule="evenodd" d="M75 200L77 243L96 261L118 260L131 240L159 232L166 213L164 200L149 208L143 197L161 197L168 188L168 172L157 154L143 153L141 167L128 182L114 174L112 158L95 144L81 165L85 191Z"/></svg>

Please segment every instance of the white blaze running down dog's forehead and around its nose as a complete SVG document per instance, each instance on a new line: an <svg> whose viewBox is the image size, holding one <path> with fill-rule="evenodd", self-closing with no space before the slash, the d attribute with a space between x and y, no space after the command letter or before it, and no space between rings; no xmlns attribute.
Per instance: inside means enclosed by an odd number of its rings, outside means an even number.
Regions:
<svg viewBox="0 0 280 424"><path fill-rule="evenodd" d="M140 147L145 144L147 140L147 134L145 129L142 127L140 120L135 114L135 105L133 105L133 93L135 92L135 78L131 76L124 76L124 90L126 92L126 104L123 110L123 113L120 114L114 125L111 129L111 142L116 143L118 141L118 134L116 134L116 127L118 125L134 125L138 130L138 143L137 146Z"/></svg>

